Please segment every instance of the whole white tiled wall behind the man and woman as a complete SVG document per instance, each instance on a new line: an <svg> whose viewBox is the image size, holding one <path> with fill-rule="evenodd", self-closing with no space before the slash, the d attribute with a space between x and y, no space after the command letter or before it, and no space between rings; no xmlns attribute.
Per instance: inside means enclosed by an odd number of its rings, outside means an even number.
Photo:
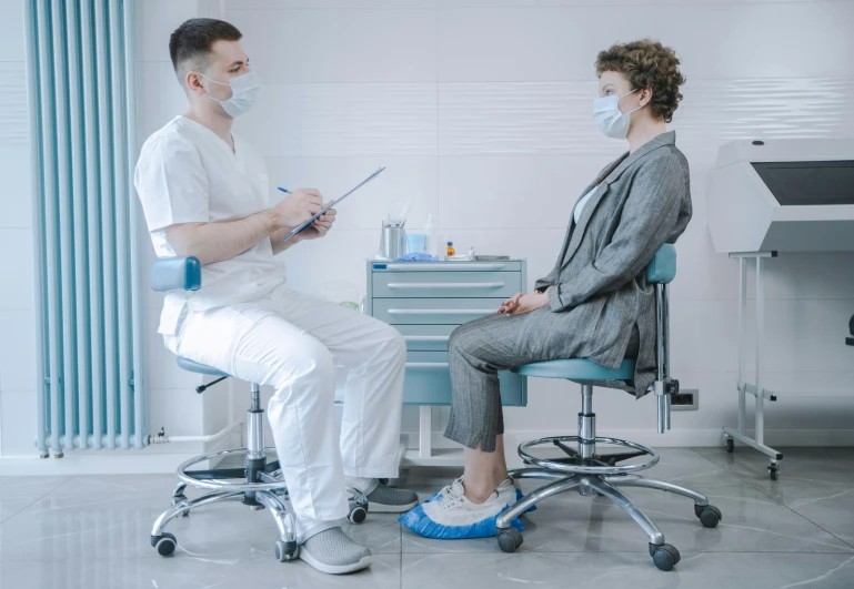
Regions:
<svg viewBox="0 0 854 589"><path fill-rule="evenodd" d="M673 368L701 389L674 429L734 422L736 264L714 253L705 193L717 148L733 139L854 135L854 1L800 0L139 0L139 135L184 109L167 50L195 16L225 18L264 82L237 130L264 155L271 183L340 193L378 165L380 182L340 207L324 240L289 251L298 288L364 292L378 223L409 202L458 250L529 260L529 282L554 262L572 203L623 145L591 112L596 52L644 35L683 60L685 100L672 128L691 162L694 219L677 244L672 286ZM0 0L0 451L31 451L34 431L29 132L19 0ZM143 267L153 256L142 243ZM854 313L854 254L787 255L766 263L767 379L802 390L770 409L776 430L851 429L854 363L843 345ZM162 297L147 293L152 428L210 433L210 407L157 336ZM748 309L752 317L753 306ZM29 339L28 339L29 337ZM748 359L748 362L751 362ZM750 365L750 364L748 364ZM820 395L816 387L836 389ZM215 389L214 389L215 390ZM575 393L531 380L510 431L572 427ZM225 395L208 397L225 405ZM649 399L646 399L649 400ZM243 406L243 397L235 397ZM601 428L649 429L651 403L597 396ZM436 410L436 424L446 409ZM847 417L846 417L847 416ZM161 423L162 422L162 423ZM404 429L416 426L412 410ZM711 439L711 438L705 438ZM665 440L665 438L662 438ZM666 441L665 441L666 443Z"/></svg>

